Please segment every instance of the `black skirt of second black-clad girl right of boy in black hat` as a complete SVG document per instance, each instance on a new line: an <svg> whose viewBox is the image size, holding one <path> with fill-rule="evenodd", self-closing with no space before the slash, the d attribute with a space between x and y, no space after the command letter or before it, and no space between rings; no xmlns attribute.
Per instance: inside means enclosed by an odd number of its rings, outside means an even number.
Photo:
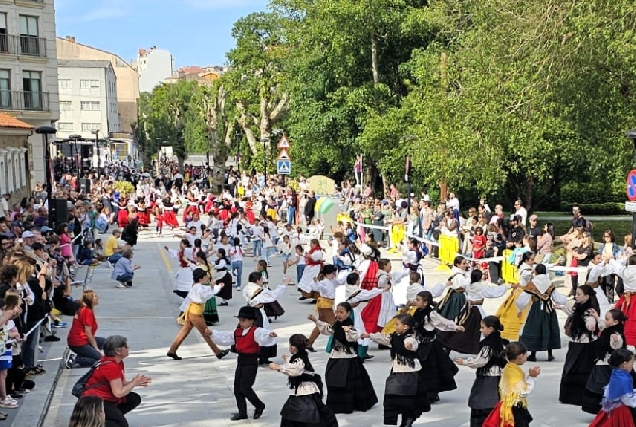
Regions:
<svg viewBox="0 0 636 427"><path fill-rule="evenodd" d="M366 412L378 403L369 373L359 357L330 358L325 383L327 406L336 414Z"/></svg>

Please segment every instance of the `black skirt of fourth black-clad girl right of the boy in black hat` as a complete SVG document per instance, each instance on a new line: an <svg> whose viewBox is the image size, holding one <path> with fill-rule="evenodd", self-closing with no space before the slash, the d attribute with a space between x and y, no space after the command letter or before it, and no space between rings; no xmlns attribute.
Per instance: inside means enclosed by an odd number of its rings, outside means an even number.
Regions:
<svg viewBox="0 0 636 427"><path fill-rule="evenodd" d="M444 348L437 340L421 343L417 356L422 364L422 375L426 378L426 390L429 398L444 391L455 390L455 375L459 372Z"/></svg>

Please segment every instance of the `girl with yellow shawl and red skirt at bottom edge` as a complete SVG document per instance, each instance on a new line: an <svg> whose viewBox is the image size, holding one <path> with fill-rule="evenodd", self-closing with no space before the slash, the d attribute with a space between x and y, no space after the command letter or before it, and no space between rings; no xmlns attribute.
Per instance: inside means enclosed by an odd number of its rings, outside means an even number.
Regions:
<svg viewBox="0 0 636 427"><path fill-rule="evenodd" d="M541 368L530 368L526 376L521 365L526 363L528 349L520 342L506 346L508 363L501 374L499 393L501 400L492 410L483 427L528 427L532 416L528 412L526 398L534 388L534 379L541 374Z"/></svg>

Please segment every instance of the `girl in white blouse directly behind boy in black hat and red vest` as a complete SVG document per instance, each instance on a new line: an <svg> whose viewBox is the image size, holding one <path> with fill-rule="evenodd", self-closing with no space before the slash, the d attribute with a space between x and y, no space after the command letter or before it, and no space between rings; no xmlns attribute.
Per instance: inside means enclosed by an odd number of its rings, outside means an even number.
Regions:
<svg viewBox="0 0 636 427"><path fill-rule="evenodd" d="M247 301L247 305L256 309L256 326L259 328L269 329L269 318L265 313L265 304L275 302L285 292L285 285L280 285L275 290L267 288L263 282L263 275L258 271L250 273L248 284L243 291L243 296ZM258 364L267 365L271 362L270 357L276 357L278 348L273 346L261 346L258 354Z"/></svg>

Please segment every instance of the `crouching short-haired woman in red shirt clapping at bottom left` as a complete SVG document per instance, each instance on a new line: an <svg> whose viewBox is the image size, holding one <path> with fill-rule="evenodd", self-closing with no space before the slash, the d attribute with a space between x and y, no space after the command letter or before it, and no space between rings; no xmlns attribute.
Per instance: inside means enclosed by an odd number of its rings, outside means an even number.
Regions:
<svg viewBox="0 0 636 427"><path fill-rule="evenodd" d="M141 404L141 397L132 391L135 387L146 387L152 378L135 375L127 381L124 373L124 359L128 357L128 340L113 335L104 341L104 357L97 369L86 381L82 397L97 396L104 400L106 425L128 427L126 415Z"/></svg>

